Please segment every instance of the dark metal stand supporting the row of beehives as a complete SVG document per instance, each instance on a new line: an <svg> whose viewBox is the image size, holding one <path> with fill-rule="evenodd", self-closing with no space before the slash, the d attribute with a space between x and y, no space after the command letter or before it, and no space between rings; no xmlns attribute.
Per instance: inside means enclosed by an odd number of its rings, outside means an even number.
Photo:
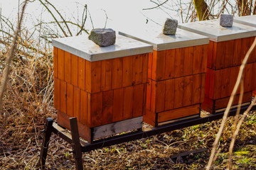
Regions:
<svg viewBox="0 0 256 170"><path fill-rule="evenodd" d="M242 106L241 111L243 112L247 109L249 105ZM252 110L255 110L256 106L252 107ZM233 108L230 110L229 115L235 115L237 108ZM46 124L43 130L43 144L41 148L40 159L38 162L38 168L45 169L46 165L46 157L48 152L48 146L50 142L50 136L53 133L61 137L66 142L70 143L73 147L73 156L75 158L75 167L76 169L80 170L83 169L82 167L82 152L89 152L94 149L100 149L102 147L109 147L111 145L117 145L122 142L129 142L132 140L139 140L144 137L149 137L152 135L158 135L163 132L169 132L171 130L178 130L181 128L186 128L192 125L198 125L201 123L207 123L212 120L218 120L223 117L223 112L208 115L207 117L199 117L199 118L192 118L189 120L182 120L176 123L169 123L166 125L161 125L156 128L152 128L151 130L139 130L136 132L129 132L124 135L117 135L114 137L107 137L102 140L96 140L92 143L89 142L82 142L80 141L79 133L78 133L78 122L77 118L70 118L70 128L71 132L66 132L65 129L60 127L57 123L53 122L52 118L46 119Z"/></svg>

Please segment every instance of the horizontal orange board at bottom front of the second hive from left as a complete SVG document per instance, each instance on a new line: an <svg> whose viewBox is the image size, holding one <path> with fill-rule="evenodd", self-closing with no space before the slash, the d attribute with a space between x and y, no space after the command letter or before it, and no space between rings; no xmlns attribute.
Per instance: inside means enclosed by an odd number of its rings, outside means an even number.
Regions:
<svg viewBox="0 0 256 170"><path fill-rule="evenodd" d="M200 105L187 106L183 108L174 109L171 111L164 111L158 113L158 123L166 122L168 120L174 120L177 118L184 118L190 115L196 115L200 113Z"/></svg>

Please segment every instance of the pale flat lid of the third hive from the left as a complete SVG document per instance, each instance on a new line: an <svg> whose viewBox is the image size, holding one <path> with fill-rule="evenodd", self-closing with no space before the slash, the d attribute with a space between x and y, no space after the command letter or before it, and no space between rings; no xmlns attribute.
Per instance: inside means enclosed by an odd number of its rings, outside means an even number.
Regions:
<svg viewBox="0 0 256 170"><path fill-rule="evenodd" d="M198 21L193 23L182 23L178 26L184 30L206 35L215 42L235 40L256 36L256 28L233 23L233 27L220 26L219 20Z"/></svg>

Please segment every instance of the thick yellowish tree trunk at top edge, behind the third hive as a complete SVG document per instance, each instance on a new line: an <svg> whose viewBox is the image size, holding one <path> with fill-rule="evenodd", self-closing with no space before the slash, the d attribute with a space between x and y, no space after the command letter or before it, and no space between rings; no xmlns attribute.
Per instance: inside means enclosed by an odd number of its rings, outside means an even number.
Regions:
<svg viewBox="0 0 256 170"><path fill-rule="evenodd" d="M204 0L193 0L199 21L208 20L210 12Z"/></svg>

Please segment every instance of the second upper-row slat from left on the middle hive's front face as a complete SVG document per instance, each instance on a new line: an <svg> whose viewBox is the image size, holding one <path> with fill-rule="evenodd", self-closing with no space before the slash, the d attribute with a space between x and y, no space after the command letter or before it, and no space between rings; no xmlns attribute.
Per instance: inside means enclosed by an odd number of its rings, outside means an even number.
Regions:
<svg viewBox="0 0 256 170"><path fill-rule="evenodd" d="M175 71L175 49L166 50L166 60L165 60L165 78L174 78Z"/></svg>

